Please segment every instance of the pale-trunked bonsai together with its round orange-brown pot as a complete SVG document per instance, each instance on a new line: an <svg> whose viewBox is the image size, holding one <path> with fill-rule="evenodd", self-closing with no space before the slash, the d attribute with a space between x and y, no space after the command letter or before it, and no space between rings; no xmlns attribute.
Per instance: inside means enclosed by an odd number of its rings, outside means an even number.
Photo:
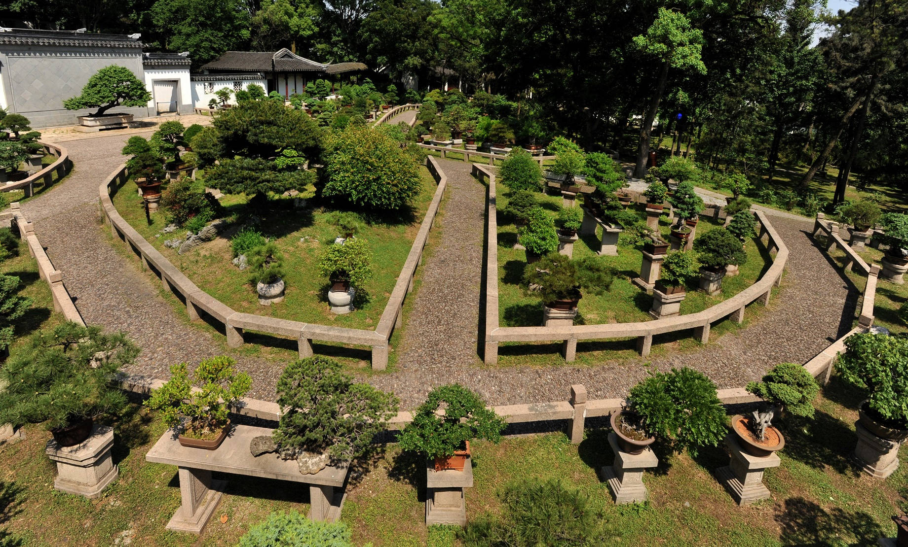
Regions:
<svg viewBox="0 0 908 547"><path fill-rule="evenodd" d="M763 399L750 416L735 415L732 431L747 454L767 456L785 446L785 437L772 425L783 410L791 415L813 417L814 398L820 391L814 376L794 363L776 365L759 382L747 384L747 391Z"/></svg>

